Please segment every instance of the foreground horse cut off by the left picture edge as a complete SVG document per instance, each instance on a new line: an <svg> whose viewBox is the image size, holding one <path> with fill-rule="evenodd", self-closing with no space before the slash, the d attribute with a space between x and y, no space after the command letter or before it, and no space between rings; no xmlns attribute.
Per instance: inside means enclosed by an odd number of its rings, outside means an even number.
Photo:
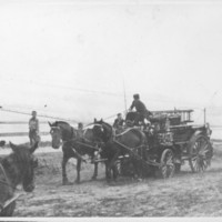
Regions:
<svg viewBox="0 0 222 222"><path fill-rule="evenodd" d="M0 216L11 216L16 209L14 192L22 184L26 192L34 190L34 169L38 159L33 155L38 142L31 148L10 142L12 153L0 160Z"/></svg>

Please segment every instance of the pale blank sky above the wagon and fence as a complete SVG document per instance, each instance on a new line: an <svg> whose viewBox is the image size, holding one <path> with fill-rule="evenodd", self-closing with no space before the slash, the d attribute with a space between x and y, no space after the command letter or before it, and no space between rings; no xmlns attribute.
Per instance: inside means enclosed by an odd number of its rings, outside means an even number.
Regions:
<svg viewBox="0 0 222 222"><path fill-rule="evenodd" d="M1 1L0 30L6 109L87 123L140 93L151 111L194 109L203 122L206 108L222 124L220 1Z"/></svg>

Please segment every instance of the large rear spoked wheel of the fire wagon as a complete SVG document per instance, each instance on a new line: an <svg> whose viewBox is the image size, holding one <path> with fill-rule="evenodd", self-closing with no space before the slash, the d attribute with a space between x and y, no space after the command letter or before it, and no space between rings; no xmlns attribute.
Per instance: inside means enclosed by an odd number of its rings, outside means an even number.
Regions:
<svg viewBox="0 0 222 222"><path fill-rule="evenodd" d="M206 137L194 137L189 148L189 163L192 172L203 172L211 163L212 153L213 150Z"/></svg>

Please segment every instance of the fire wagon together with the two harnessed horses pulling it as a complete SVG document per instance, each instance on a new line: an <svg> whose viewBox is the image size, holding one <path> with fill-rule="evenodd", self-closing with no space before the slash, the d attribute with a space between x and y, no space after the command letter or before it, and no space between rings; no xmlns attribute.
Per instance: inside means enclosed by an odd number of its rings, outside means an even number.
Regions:
<svg viewBox="0 0 222 222"><path fill-rule="evenodd" d="M70 158L78 160L77 181L80 181L85 154L94 163L93 179L98 175L98 162L105 163L108 180L125 175L129 170L138 176L158 172L162 178L171 178L185 161L193 172L204 171L213 155L211 130L209 124L192 124L191 113L192 110L155 111L150 123L135 125L137 113L129 112L123 128L113 129L103 120L94 120L82 137L67 122L50 123L52 148L58 149L63 141L63 183L68 182L65 164Z"/></svg>

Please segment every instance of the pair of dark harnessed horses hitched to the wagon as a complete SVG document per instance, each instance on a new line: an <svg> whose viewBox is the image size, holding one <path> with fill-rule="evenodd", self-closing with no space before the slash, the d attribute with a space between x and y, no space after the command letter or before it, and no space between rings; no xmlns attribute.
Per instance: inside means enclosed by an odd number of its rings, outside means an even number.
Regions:
<svg viewBox="0 0 222 222"><path fill-rule="evenodd" d="M130 121L130 120L129 120ZM117 160L119 157L130 155L130 160L135 170L135 174L141 175L141 163L138 159L145 159L145 134L137 129L129 128L112 128L109 123L102 120L94 120L85 129L78 131L69 123L63 121L49 122L51 128L52 148L59 149L62 145L62 182L70 184L65 165L70 158L77 159L77 179L80 182L81 163L87 162L83 158L89 155L90 162L94 164L92 179L98 176L98 163L104 162L105 178L110 181L117 179L119 172L117 169ZM92 128L89 128L92 125Z"/></svg>

